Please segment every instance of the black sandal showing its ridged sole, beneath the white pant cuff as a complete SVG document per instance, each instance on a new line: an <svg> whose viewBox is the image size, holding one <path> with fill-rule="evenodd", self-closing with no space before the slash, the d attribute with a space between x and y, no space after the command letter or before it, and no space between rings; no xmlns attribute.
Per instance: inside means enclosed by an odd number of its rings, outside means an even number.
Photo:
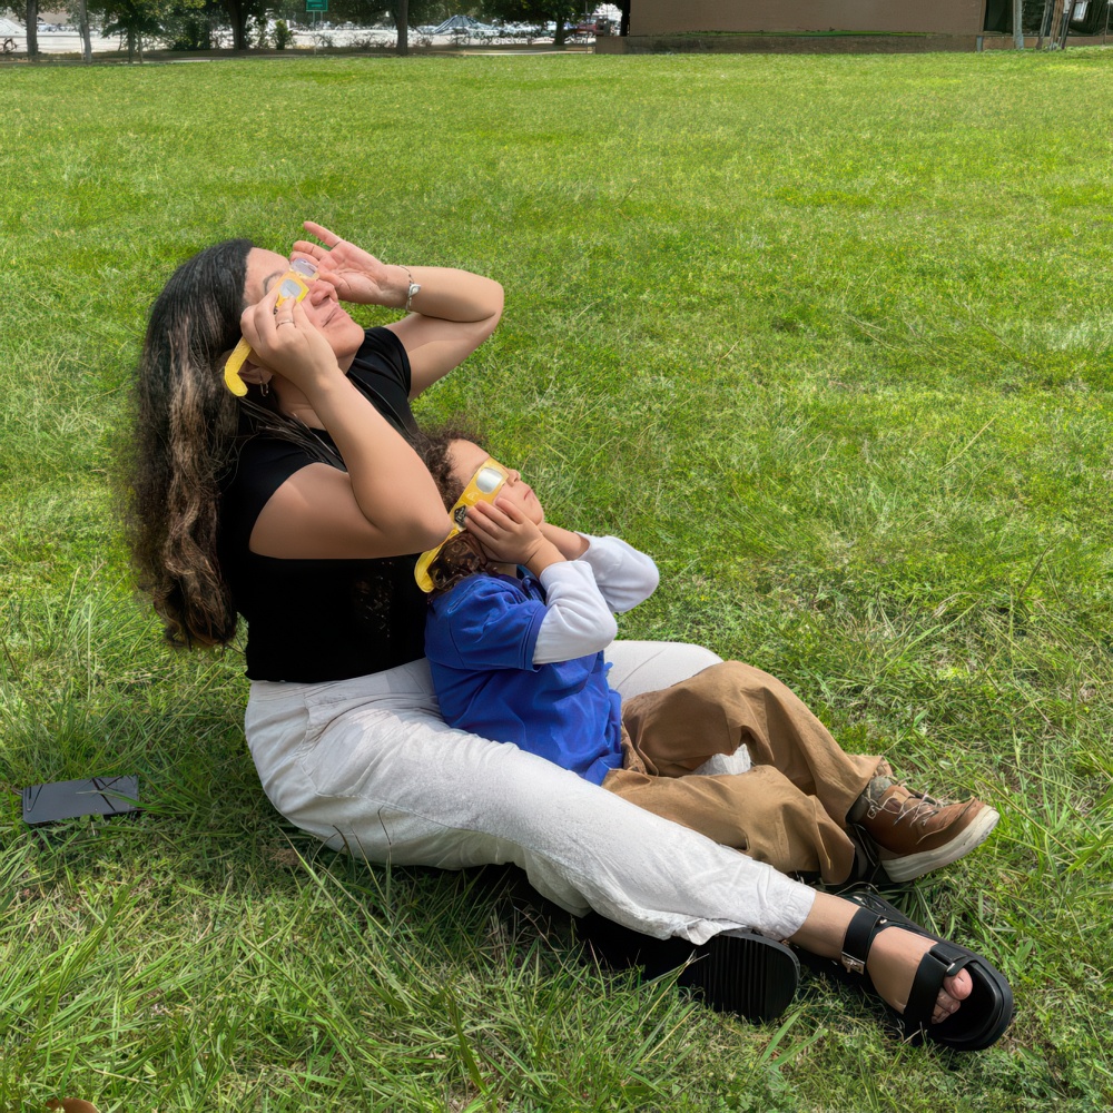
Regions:
<svg viewBox="0 0 1113 1113"><path fill-rule="evenodd" d="M581 920L578 929L605 965L620 969L641 966L647 978L682 967L677 985L701 996L709 1008L737 1013L749 1021L775 1021L796 996L800 982L800 963L794 951L749 932L693 944L653 939L595 915Z"/></svg>

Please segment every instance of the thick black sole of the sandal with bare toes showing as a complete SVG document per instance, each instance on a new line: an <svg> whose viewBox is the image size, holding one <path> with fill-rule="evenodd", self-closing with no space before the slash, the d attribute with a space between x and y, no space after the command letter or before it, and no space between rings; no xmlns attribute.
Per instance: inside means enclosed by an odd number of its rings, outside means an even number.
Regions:
<svg viewBox="0 0 1113 1113"><path fill-rule="evenodd" d="M935 943L946 943L955 951L962 952L967 959L964 969L969 972L974 988L958 1011L940 1024L923 1026L907 1024L902 1014L886 1005L889 1015L905 1033L905 1038L909 1043L919 1043L926 1036L934 1043L952 1047L955 1051L982 1051L996 1043L1004 1035L1013 1018L1013 991L1001 971L992 966L976 952L928 932L914 919L909 919L899 908L890 905L869 886L845 889L839 895L858 905L859 908L868 908L878 916L884 916L895 927L903 927L907 932L913 932ZM800 958L810 969L877 996L877 991L868 975L851 974L840 963L831 962L829 958L820 958L806 951L800 952Z"/></svg>

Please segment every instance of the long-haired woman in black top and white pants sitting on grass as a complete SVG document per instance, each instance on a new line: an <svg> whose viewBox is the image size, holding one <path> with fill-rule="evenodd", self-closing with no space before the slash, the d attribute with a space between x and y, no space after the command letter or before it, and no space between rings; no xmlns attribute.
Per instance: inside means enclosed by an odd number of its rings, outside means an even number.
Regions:
<svg viewBox="0 0 1113 1113"><path fill-rule="evenodd" d="M278 306L288 260L245 240L179 267L152 307L137 387L136 563L173 640L223 643L237 611L247 619L247 740L275 807L373 861L513 861L564 908L658 938L787 938L868 967L865 984L909 1032L996 1040L1011 998L984 959L444 725L413 570L450 522L408 398L491 334L502 289L385 266L305 227L324 246L295 244L318 267L303 302ZM365 333L341 299L408 312ZM253 355L237 401L223 370L240 335ZM718 660L653 643L608 656L626 697Z"/></svg>

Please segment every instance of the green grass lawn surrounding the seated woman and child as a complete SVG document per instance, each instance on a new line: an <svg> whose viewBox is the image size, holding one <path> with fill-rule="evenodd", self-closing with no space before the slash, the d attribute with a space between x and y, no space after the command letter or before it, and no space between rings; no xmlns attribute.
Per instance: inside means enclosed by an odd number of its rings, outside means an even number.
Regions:
<svg viewBox="0 0 1113 1113"><path fill-rule="evenodd" d="M1085 49L0 72L0 784L138 771L147 808L38 836L3 797L0 1109L1110 1107L1111 86ZM273 811L238 649L170 653L134 593L112 445L175 264L307 217L505 285L420 416L657 556L623 637L1001 810L902 897L1012 981L996 1047L816 979L749 1026L512 877Z"/></svg>

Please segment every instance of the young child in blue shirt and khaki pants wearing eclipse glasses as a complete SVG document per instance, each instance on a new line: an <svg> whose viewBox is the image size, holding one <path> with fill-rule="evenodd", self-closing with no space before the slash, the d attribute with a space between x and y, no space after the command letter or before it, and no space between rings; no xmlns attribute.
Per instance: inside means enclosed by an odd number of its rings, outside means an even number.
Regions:
<svg viewBox="0 0 1113 1113"><path fill-rule="evenodd" d="M459 531L417 565L432 589L426 656L451 726L830 883L855 865L848 827L890 879L910 880L957 860L997 823L978 800L934 800L895 784L883 759L844 754L788 688L739 661L623 706L603 650L614 612L656 590L652 560L618 538L546 522L521 474L471 441L431 439L425 456ZM742 746L748 771L703 774Z"/></svg>

